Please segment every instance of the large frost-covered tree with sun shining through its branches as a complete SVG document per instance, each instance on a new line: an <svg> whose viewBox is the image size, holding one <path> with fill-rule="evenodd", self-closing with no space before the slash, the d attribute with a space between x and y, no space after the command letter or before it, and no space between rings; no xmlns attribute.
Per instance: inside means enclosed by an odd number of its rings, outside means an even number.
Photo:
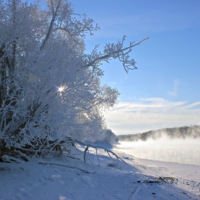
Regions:
<svg viewBox="0 0 200 200"><path fill-rule="evenodd" d="M129 53L140 42L124 47L123 37L85 54L84 38L98 29L67 0L0 0L1 157L51 153L67 136L103 137L101 110L119 93L101 85L100 65L113 58L136 69Z"/></svg>

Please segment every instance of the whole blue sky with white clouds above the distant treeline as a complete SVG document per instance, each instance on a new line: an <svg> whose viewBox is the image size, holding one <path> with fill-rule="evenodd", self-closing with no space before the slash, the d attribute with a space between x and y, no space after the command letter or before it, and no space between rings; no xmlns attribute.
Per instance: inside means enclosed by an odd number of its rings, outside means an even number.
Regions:
<svg viewBox="0 0 200 200"><path fill-rule="evenodd" d="M117 42L149 40L133 49L138 70L120 62L103 63L102 83L121 93L105 113L116 134L200 124L199 0L72 0L75 12L100 26L86 39L86 50Z"/></svg>

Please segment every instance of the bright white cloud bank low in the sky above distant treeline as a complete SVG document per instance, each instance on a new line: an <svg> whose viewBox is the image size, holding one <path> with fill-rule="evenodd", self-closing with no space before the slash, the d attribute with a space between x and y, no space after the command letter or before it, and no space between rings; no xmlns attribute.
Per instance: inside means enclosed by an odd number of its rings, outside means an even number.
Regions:
<svg viewBox="0 0 200 200"><path fill-rule="evenodd" d="M200 102L168 101L162 98L120 102L105 113L107 125L116 134L140 133L152 129L200 123ZM191 109L192 108L192 109Z"/></svg>

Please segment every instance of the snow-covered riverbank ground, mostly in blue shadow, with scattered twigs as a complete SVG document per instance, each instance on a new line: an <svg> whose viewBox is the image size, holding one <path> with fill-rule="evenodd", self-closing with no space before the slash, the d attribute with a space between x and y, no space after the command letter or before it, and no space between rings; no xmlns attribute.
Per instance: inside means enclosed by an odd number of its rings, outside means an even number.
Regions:
<svg viewBox="0 0 200 200"><path fill-rule="evenodd" d="M200 199L200 166L98 153L0 163L0 200Z"/></svg>

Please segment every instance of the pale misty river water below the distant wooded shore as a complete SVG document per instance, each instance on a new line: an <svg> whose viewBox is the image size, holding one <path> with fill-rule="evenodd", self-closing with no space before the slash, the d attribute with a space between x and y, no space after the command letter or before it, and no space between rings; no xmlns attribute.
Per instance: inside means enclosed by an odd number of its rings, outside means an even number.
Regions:
<svg viewBox="0 0 200 200"><path fill-rule="evenodd" d="M200 166L200 138L120 141L117 150L138 158Z"/></svg>

